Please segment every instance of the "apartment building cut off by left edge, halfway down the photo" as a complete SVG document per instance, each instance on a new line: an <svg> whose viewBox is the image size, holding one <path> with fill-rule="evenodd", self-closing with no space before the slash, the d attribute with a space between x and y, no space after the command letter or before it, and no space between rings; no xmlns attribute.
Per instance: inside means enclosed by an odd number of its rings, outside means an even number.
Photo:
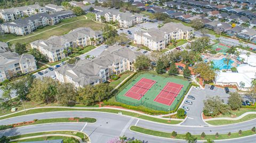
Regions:
<svg viewBox="0 0 256 143"><path fill-rule="evenodd" d="M33 55L22 54L20 56L10 51L0 53L0 82L35 70L37 66Z"/></svg>

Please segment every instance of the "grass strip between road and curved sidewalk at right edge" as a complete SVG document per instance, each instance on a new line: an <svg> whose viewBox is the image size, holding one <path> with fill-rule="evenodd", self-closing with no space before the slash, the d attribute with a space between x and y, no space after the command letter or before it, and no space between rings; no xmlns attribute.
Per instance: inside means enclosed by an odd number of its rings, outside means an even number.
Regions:
<svg viewBox="0 0 256 143"><path fill-rule="evenodd" d="M254 118L256 118L256 114L246 115L246 116L242 117L242 119L239 119L239 120L215 120L215 121L206 121L206 122L209 124L212 124L212 125L223 125L223 124L233 124L233 123L248 121L248 120L251 120Z"/></svg>

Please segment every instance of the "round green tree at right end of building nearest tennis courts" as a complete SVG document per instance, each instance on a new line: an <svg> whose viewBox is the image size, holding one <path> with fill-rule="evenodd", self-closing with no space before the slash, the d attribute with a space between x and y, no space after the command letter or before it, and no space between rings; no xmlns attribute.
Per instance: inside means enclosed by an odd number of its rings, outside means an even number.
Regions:
<svg viewBox="0 0 256 143"><path fill-rule="evenodd" d="M136 61L134 63L134 67L136 70L147 70L150 67L150 59L146 55L137 56Z"/></svg>

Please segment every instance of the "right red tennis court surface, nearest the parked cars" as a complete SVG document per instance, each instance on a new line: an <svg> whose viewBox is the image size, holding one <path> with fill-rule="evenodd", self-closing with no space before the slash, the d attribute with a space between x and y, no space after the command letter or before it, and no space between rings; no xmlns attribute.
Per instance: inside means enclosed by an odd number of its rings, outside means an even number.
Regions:
<svg viewBox="0 0 256 143"><path fill-rule="evenodd" d="M161 90L161 92L156 96L154 101L170 106L182 88L183 85L168 82L166 86Z"/></svg>

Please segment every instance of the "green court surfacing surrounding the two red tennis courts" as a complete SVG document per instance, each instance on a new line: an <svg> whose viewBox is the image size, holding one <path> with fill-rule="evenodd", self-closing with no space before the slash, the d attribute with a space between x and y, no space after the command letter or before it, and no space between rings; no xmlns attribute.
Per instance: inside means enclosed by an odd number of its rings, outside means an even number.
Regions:
<svg viewBox="0 0 256 143"><path fill-rule="evenodd" d="M143 96L140 100L124 96L125 93L127 91L129 91L133 87L133 85L135 85L135 83L137 83L141 78L155 80L155 81L157 81L157 83L155 83L155 85L153 85L153 87L151 87L146 92L145 96ZM177 78L173 78L173 77L164 78L164 77L160 77L158 75L153 75L153 74L149 74L149 73L140 74L138 78L136 78L134 80L129 80L128 82L129 82L129 85L127 87L125 87L117 95L118 102L125 103L127 105L132 105L132 106L140 106L142 103L143 106L153 108L154 110L162 110L162 111L168 111L169 108L170 108L170 110L174 110L175 107L180 102L180 100L182 99L183 94L185 94L185 92L189 86L189 82L185 81L185 80L181 80L181 79L177 79ZM158 102L154 102L154 99L159 94L159 92L161 92L161 90L164 88L164 86L166 85L167 82L174 82L174 83L183 85L183 89L184 89L184 90L181 89L179 95L177 96L177 98L175 98L174 102L171 104L170 107L167 105L158 103Z"/></svg>

